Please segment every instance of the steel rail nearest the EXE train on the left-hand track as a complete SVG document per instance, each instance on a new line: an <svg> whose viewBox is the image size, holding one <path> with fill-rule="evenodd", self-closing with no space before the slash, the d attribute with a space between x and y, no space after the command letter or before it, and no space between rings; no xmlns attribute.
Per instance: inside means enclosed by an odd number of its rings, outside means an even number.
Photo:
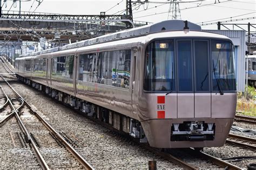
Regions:
<svg viewBox="0 0 256 170"><path fill-rule="evenodd" d="M95 169L95 168L93 168L93 166L91 166L91 165L89 164L89 162L87 162L87 161L82 157L82 155L80 155L80 154L75 150L75 148L73 148L62 136L60 136L60 134L59 134L56 130L54 130L54 129L52 128L52 126L51 126L50 124L48 124L48 123L38 114L38 112L37 112L35 109L33 109L33 108L31 107L31 105L30 105L21 95L19 95L19 94L17 93L17 91L16 91L14 88L12 88L12 86L8 83L8 81L6 81L6 80L4 79L3 76L1 76L1 77L2 77L2 79L8 84L8 86L12 89L12 91L14 91L14 93L15 93L17 96L19 96L19 98L21 98L21 99L24 101L24 103L26 104L26 106L33 112L33 114L36 115L36 117L39 119L39 121L41 121L41 122L44 124L44 126L45 126L49 131L53 132L53 133L62 141L62 143L66 146L66 148L68 149L68 151L80 162L80 164L82 164L86 169Z"/></svg>

